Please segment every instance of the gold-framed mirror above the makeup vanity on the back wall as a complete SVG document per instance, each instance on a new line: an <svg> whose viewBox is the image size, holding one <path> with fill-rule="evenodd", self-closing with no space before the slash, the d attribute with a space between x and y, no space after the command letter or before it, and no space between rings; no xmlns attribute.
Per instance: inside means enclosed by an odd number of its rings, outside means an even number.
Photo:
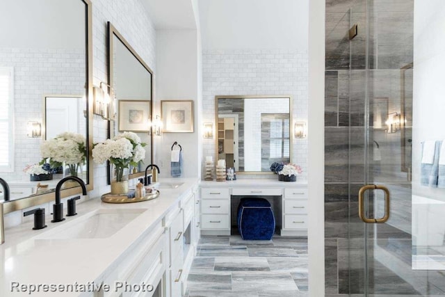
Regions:
<svg viewBox="0 0 445 297"><path fill-rule="evenodd" d="M216 159L238 173L273 174L274 162L290 163L292 97L216 96Z"/></svg>

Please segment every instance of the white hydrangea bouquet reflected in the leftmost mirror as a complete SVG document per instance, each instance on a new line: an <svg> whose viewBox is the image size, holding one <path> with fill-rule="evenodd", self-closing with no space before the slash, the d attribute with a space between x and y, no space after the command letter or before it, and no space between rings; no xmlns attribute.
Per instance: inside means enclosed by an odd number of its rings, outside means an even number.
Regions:
<svg viewBox="0 0 445 297"><path fill-rule="evenodd" d="M40 146L42 162L49 159L51 168L63 166L70 168L70 174L77 176L79 166L86 161L86 138L82 134L64 132L55 138L44 141Z"/></svg>

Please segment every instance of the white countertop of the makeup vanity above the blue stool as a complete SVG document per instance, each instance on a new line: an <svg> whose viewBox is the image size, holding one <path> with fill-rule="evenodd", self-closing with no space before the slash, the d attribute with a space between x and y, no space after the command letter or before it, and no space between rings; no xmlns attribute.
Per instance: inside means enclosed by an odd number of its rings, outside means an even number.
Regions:
<svg viewBox="0 0 445 297"><path fill-rule="evenodd" d="M276 177L276 176L275 176ZM232 181L225 182L216 182L216 181L201 181L200 186L204 188L230 188L230 187L255 187L259 186L264 188L303 188L307 187L307 181L299 181L296 182L280 182L275 179L243 179L239 178Z"/></svg>

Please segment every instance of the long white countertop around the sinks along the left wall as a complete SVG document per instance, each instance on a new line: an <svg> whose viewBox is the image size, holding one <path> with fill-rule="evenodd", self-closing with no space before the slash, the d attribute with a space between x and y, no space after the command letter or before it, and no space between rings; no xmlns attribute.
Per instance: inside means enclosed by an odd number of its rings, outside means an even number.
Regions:
<svg viewBox="0 0 445 297"><path fill-rule="evenodd" d="M159 226L162 218L177 202L191 193L197 178L161 179L161 183L184 183L177 188L161 188L159 198L138 203L107 204L100 198L88 200L77 206L79 215L65 216L61 223L51 223L47 214L47 228L32 230L33 223L25 223L5 230L5 243L1 251L0 296L29 296L29 291L11 293L11 283L39 284L88 284L103 277L104 271L143 234ZM66 203L65 203L66 204ZM65 205L66 206L66 205ZM55 232L70 221L88 216L98 209L145 209L115 234L102 239L39 239L45 232ZM131 211L129 211L131 212ZM33 293L31 296L79 296L78 292Z"/></svg>

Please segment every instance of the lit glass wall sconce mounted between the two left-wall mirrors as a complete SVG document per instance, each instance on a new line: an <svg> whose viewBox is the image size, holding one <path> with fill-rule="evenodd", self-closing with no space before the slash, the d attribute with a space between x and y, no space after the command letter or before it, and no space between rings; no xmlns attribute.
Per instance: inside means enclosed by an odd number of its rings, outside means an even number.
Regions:
<svg viewBox="0 0 445 297"><path fill-rule="evenodd" d="M93 88L93 113L100 115L104 120L115 120L114 91L108 83L100 82L99 87Z"/></svg>

